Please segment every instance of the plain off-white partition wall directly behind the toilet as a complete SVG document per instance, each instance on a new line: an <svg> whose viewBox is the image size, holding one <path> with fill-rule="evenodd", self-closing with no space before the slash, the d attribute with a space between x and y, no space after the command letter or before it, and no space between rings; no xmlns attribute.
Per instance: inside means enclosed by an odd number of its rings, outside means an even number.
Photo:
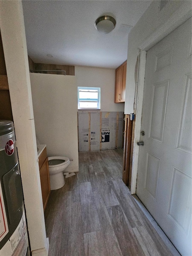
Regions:
<svg viewBox="0 0 192 256"><path fill-rule="evenodd" d="M78 171L77 89L75 76L30 74L36 136L48 156L73 159Z"/></svg>

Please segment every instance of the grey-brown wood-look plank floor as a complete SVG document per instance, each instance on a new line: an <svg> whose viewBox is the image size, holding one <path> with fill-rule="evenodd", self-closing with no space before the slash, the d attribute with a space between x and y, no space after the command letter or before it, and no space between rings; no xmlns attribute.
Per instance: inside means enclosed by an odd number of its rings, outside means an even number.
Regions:
<svg viewBox="0 0 192 256"><path fill-rule="evenodd" d="M122 182L122 159L122 149L79 153L79 173L47 204L49 256L173 256Z"/></svg>

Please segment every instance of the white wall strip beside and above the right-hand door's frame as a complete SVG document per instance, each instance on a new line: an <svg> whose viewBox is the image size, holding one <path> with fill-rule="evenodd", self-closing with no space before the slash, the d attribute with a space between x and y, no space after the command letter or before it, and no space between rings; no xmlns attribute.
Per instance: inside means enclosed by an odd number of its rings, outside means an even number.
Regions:
<svg viewBox="0 0 192 256"><path fill-rule="evenodd" d="M187 4L188 10L191 9L191 1L169 1L160 11L161 1L152 1L152 4L134 26L128 37L128 61L127 61L127 80L125 94L125 114L133 113L134 94L135 94L135 64L137 61L138 48L143 41L148 38L156 29L163 24L181 5Z"/></svg>

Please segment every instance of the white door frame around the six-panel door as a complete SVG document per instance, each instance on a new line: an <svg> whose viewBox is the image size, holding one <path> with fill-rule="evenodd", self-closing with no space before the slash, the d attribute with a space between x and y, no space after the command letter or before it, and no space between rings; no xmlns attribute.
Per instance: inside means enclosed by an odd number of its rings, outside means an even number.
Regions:
<svg viewBox="0 0 192 256"><path fill-rule="evenodd" d="M191 8L188 5L183 4L176 12L170 16L170 18L162 24L158 29L155 30L148 38L146 38L140 45L140 59L139 59L139 70L138 70L138 83L135 88L136 98L134 99L134 113L135 113L135 132L134 132L134 150L132 156L132 169L131 169L131 194L136 194L137 188L137 170L139 162L139 146L137 142L140 140L141 131L141 119L143 110L143 90L145 83L145 68L146 68L146 53L147 51L170 34L174 29L179 27L182 23L188 20L191 14Z"/></svg>

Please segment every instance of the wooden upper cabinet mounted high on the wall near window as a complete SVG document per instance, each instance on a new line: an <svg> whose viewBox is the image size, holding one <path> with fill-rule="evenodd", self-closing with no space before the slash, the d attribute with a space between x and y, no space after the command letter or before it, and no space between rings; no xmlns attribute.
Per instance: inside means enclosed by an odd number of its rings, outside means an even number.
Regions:
<svg viewBox="0 0 192 256"><path fill-rule="evenodd" d="M125 102L127 61L116 69L115 103Z"/></svg>

